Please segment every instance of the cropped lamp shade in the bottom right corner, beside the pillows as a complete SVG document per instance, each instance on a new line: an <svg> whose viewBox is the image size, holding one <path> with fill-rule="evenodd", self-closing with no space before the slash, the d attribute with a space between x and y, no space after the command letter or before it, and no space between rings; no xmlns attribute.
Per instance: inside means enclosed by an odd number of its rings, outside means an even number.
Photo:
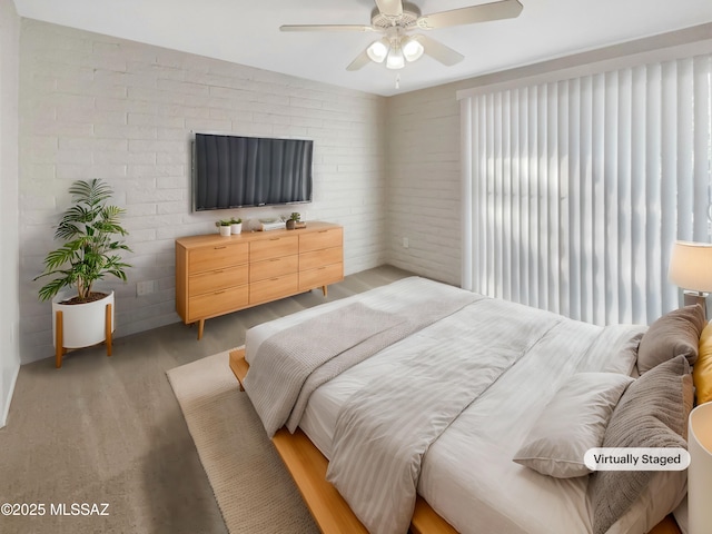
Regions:
<svg viewBox="0 0 712 534"><path fill-rule="evenodd" d="M706 534L712 525L712 403L690 412L688 451L688 534Z"/></svg>

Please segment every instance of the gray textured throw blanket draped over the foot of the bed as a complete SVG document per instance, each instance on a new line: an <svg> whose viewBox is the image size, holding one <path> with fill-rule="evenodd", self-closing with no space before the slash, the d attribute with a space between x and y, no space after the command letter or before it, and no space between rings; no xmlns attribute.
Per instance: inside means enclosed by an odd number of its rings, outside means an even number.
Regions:
<svg viewBox="0 0 712 534"><path fill-rule="evenodd" d="M318 386L478 298L467 293L424 298L397 314L354 303L322 314L266 339L245 377L245 390L270 437L287 421L294 432Z"/></svg>

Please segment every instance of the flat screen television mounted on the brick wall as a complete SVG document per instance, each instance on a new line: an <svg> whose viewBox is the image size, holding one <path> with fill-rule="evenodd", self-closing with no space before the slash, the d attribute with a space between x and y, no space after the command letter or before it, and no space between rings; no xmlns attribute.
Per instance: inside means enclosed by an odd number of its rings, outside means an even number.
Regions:
<svg viewBox="0 0 712 534"><path fill-rule="evenodd" d="M192 209L312 201L314 141L196 134Z"/></svg>

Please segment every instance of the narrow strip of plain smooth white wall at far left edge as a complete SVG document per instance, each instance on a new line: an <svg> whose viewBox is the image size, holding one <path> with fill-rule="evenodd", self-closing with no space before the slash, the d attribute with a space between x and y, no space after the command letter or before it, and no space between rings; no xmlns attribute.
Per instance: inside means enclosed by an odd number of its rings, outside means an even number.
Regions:
<svg viewBox="0 0 712 534"><path fill-rule="evenodd" d="M0 0L0 427L20 369L18 306L18 83L20 18Z"/></svg>

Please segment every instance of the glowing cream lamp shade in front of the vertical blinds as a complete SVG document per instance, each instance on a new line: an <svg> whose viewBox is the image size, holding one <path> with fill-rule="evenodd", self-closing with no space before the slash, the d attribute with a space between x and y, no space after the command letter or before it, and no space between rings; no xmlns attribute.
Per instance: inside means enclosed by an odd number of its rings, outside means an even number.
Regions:
<svg viewBox="0 0 712 534"><path fill-rule="evenodd" d="M675 241L668 278L683 289L712 293L712 244Z"/></svg>

